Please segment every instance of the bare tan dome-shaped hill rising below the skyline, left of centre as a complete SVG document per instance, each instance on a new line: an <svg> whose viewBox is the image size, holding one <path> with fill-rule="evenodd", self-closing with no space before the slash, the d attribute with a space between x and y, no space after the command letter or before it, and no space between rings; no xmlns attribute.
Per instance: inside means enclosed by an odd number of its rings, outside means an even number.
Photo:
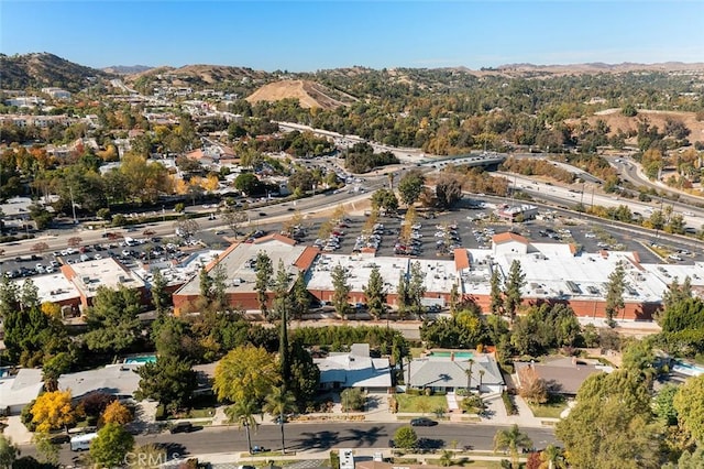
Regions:
<svg viewBox="0 0 704 469"><path fill-rule="evenodd" d="M287 98L298 99L301 108L334 109L346 106L345 102L332 98L324 86L299 79L270 83L250 95L246 100L279 101Z"/></svg>

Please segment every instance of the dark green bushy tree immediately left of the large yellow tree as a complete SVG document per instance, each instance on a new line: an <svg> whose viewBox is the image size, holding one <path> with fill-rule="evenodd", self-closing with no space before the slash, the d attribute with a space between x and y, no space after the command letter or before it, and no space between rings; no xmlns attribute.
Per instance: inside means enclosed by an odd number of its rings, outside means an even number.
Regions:
<svg viewBox="0 0 704 469"><path fill-rule="evenodd" d="M135 397L158 401L172 413L185 408L198 388L190 361L178 356L160 356L155 362L140 367L138 374L140 389Z"/></svg>

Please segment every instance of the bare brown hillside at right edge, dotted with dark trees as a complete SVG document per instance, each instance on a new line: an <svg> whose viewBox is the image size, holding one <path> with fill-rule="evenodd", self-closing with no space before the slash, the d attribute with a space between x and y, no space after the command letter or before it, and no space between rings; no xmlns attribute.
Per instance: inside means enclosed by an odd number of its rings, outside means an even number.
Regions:
<svg viewBox="0 0 704 469"><path fill-rule="evenodd" d="M619 129L626 133L629 130L637 131L638 122L644 119L647 119L651 126L656 126L660 131L664 129L664 124L668 119L680 120L690 129L690 142L704 142L704 121L697 121L694 112L652 111L639 109L637 116L626 117L620 112L620 109L606 109L588 117L587 121L590 124L595 124L600 119L606 122L610 129L609 134L617 133ZM576 122L576 119L568 121L568 123Z"/></svg>

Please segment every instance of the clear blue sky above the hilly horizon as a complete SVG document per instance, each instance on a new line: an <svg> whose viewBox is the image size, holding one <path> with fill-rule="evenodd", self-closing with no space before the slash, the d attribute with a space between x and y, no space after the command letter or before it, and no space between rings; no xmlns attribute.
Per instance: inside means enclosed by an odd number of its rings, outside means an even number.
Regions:
<svg viewBox="0 0 704 469"><path fill-rule="evenodd" d="M0 52L292 72L704 62L704 1L0 0Z"/></svg>

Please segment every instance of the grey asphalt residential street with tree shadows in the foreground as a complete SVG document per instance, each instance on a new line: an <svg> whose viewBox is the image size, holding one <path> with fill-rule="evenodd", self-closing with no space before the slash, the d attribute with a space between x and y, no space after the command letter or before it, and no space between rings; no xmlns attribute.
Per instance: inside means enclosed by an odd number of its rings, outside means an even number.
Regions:
<svg viewBox="0 0 704 469"><path fill-rule="evenodd" d="M286 449L292 451L324 451L332 448L388 448L389 439L404 424L382 423L306 423L287 424L285 426ZM473 449L492 450L493 438L497 430L506 428L498 425L477 424L446 424L435 427L416 427L419 438L426 438L431 448L450 447L457 441L457 447L471 446ZM551 428L522 428L537 448L544 448L556 443ZM158 435L138 436L138 445L157 444L167 448L169 455L185 457L189 455L206 455L216 452L246 451L244 430L237 427L208 427L190 434L162 433ZM280 428L276 425L262 425L256 433L252 433L252 445L263 446L274 450L280 449ZM23 456L34 456L34 448L22 448ZM72 452L68 445L63 445L61 462L75 465L78 454Z"/></svg>

